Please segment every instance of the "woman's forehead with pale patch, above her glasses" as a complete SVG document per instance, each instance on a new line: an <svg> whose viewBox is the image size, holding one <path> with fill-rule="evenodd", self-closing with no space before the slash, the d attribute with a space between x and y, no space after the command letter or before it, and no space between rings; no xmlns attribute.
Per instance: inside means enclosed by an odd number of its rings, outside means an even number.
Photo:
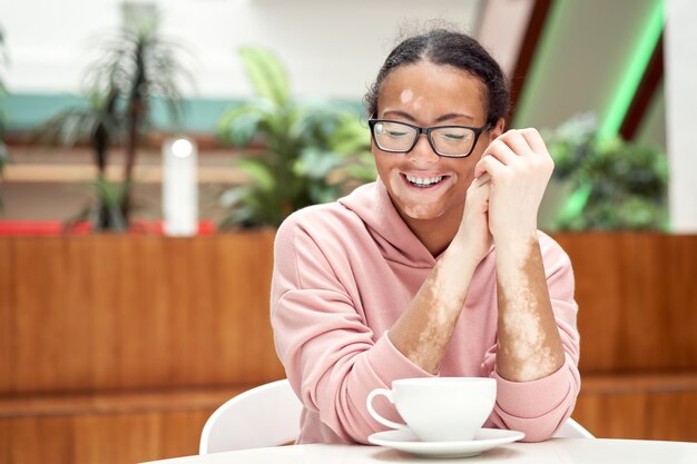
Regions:
<svg viewBox="0 0 697 464"><path fill-rule="evenodd" d="M483 120L487 87L478 77L450 65L420 61L394 69L383 81L377 112L406 111L423 119L467 113Z"/></svg>

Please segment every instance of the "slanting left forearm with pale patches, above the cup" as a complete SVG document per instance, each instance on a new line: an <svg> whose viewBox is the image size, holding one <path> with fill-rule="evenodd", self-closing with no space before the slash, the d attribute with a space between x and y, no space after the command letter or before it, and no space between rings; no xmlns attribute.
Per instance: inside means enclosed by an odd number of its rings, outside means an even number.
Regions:
<svg viewBox="0 0 697 464"><path fill-rule="evenodd" d="M445 355L477 268L468 256L463 244L453 240L389 332L394 347L431 374Z"/></svg>

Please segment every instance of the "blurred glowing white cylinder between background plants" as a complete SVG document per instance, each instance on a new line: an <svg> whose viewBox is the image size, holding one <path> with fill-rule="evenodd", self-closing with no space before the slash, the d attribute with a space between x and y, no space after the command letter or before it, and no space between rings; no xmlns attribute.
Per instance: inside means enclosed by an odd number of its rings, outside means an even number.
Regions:
<svg viewBox="0 0 697 464"><path fill-rule="evenodd" d="M163 144L163 216L165 235L198 233L196 144L177 137Z"/></svg>

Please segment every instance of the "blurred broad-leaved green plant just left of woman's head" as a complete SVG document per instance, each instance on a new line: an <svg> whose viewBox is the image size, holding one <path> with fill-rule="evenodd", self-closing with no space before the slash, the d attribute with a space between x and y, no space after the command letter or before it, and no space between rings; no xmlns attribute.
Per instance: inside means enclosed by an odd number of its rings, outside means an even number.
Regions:
<svg viewBox="0 0 697 464"><path fill-rule="evenodd" d="M243 47L239 58L255 96L222 116L218 135L262 149L236 161L249 182L223 194L229 215L222 228L276 227L296 209L375 179L370 134L354 109L292 98L287 71L269 50Z"/></svg>

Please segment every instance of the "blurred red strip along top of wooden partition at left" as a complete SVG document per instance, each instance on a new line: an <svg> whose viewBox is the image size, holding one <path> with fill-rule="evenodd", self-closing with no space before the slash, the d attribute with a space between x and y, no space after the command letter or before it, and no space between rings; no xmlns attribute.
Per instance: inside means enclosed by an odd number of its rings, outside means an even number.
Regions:
<svg viewBox="0 0 697 464"><path fill-rule="evenodd" d="M0 236L87 235L91 225L79 223L70 227L60 220L0 220ZM198 223L197 235L213 235L216 226L210 220ZM161 220L134 220L128 230L131 235L165 235Z"/></svg>

